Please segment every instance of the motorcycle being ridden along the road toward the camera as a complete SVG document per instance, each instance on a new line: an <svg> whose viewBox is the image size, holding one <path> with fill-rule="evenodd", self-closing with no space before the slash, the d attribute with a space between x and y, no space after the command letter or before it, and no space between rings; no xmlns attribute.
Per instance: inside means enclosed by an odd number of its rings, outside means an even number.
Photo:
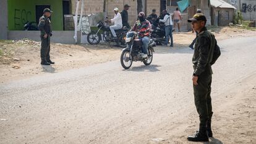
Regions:
<svg viewBox="0 0 256 144"><path fill-rule="evenodd" d="M124 69L129 69L130 66L132 66L133 61L141 61L148 66L153 60L153 52L155 52L153 46L155 46L155 42L150 39L150 42L148 43L148 57L143 58L143 43L138 36L139 33L137 32L128 32L126 35L127 47L122 50L121 54L121 65Z"/></svg>

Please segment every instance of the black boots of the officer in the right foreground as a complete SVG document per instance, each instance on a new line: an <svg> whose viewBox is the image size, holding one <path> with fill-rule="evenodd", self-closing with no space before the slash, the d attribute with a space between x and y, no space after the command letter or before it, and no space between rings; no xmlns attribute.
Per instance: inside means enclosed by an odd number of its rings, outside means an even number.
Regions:
<svg viewBox="0 0 256 144"><path fill-rule="evenodd" d="M187 140L192 142L209 142L209 138L207 136L207 128L200 127L194 135L187 137Z"/></svg>

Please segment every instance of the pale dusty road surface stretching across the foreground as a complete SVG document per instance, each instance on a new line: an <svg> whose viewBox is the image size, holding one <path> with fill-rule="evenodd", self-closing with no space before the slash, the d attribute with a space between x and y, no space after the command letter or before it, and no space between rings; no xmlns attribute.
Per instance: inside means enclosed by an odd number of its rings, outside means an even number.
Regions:
<svg viewBox="0 0 256 144"><path fill-rule="evenodd" d="M219 41L210 143L256 143L256 37ZM189 143L198 128L190 49L0 84L0 143Z"/></svg>

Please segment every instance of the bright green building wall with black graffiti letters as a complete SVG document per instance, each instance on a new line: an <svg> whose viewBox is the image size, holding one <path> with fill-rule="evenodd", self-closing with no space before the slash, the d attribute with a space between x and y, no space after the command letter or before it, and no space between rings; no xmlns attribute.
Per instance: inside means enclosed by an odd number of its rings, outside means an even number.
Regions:
<svg viewBox="0 0 256 144"><path fill-rule="evenodd" d="M8 30L23 30L27 21L36 22L36 5L50 5L53 30L63 30L62 0L8 0Z"/></svg>

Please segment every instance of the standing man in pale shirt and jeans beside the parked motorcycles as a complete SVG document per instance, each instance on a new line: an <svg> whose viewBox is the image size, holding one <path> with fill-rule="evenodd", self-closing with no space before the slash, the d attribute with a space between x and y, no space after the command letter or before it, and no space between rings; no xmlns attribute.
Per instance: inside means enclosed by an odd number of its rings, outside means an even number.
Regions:
<svg viewBox="0 0 256 144"><path fill-rule="evenodd" d="M173 47L173 19L166 10L163 11L164 19L160 19L159 22L164 22L165 25L165 45L169 42L169 36L171 38L171 47Z"/></svg>

